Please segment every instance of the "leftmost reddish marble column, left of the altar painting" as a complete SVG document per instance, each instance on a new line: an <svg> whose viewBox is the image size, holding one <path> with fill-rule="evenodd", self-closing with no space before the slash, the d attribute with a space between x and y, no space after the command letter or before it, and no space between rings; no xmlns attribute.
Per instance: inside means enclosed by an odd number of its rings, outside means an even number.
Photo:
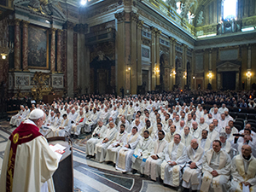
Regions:
<svg viewBox="0 0 256 192"><path fill-rule="evenodd" d="M15 71L20 71L20 21L15 19Z"/></svg>

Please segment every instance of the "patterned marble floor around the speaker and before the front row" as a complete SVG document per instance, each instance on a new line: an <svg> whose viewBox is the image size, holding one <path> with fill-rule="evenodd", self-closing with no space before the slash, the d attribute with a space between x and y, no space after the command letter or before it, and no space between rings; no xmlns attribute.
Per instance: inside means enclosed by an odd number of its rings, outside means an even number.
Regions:
<svg viewBox="0 0 256 192"><path fill-rule="evenodd" d="M9 122L0 122L0 170L3 162L3 152L7 139L15 128L9 126ZM112 191L177 191L163 186L162 183L151 181L149 178L141 178L139 174L122 174L111 165L98 163L95 160L85 158L85 144L90 136L73 141L73 183L74 191L112 192Z"/></svg>

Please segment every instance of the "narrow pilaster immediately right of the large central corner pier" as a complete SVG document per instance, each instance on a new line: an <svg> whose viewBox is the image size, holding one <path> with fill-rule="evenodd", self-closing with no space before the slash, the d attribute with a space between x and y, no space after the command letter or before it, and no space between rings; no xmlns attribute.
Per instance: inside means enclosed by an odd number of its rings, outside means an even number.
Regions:
<svg viewBox="0 0 256 192"><path fill-rule="evenodd" d="M137 20L137 84L143 84L142 71L142 27L143 20Z"/></svg>

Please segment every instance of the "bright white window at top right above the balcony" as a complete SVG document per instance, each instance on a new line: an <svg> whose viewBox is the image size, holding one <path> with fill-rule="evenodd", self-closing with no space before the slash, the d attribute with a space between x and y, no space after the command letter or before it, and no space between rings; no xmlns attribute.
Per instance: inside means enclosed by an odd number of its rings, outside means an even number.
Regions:
<svg viewBox="0 0 256 192"><path fill-rule="evenodd" d="M237 0L222 1L222 20L236 19L237 15Z"/></svg>

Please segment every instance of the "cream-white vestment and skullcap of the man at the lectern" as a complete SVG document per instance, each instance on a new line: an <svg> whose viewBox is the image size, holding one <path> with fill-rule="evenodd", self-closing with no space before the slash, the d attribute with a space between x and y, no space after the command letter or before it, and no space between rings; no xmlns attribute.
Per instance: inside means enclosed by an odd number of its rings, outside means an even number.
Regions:
<svg viewBox="0 0 256 192"><path fill-rule="evenodd" d="M24 124L35 125L31 120L26 120ZM35 125L36 126L36 125ZM38 129L39 131L39 129ZM16 134L15 134L16 135ZM27 137L30 137L28 135ZM15 138L15 137L14 137ZM23 139L26 137L19 138ZM3 166L0 179L0 191L6 191L6 176L9 164L11 141L8 140L4 152ZM11 150L12 151L12 150ZM41 187L46 184L45 191L54 192L52 175L58 168L56 154L49 148L49 143L43 136L38 136L27 143L18 144L15 153L15 169L13 174L12 191L30 192L41 191Z"/></svg>

